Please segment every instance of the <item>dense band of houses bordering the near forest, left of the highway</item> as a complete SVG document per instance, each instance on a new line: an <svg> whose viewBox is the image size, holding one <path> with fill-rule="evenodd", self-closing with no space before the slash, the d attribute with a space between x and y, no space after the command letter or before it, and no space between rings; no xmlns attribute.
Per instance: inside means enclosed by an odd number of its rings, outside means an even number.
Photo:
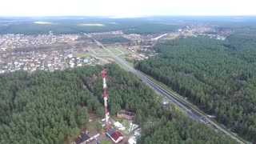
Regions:
<svg viewBox="0 0 256 144"><path fill-rule="evenodd" d="M30 51L3 54L1 59L8 58L8 62L1 64L0 74L14 72L15 70L64 70L74 66L86 66L91 64L101 64L93 57L79 58L74 56L75 50L54 50L48 52Z"/></svg>

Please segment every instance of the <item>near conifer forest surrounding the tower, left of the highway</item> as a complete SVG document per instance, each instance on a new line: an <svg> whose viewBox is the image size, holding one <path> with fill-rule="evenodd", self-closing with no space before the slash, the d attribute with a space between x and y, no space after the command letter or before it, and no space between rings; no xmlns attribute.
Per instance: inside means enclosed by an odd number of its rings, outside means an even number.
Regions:
<svg viewBox="0 0 256 144"><path fill-rule="evenodd" d="M162 106L154 90L117 64L104 67L110 115L135 112L134 122L142 126L139 143L234 143L173 106ZM101 70L84 66L0 75L0 143L71 142L88 125L90 113L104 117Z"/></svg>

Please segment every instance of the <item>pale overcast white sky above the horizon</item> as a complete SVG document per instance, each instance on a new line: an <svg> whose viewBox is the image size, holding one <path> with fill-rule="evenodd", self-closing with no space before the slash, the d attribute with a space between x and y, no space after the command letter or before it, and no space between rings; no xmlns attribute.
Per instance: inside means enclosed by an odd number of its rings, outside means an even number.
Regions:
<svg viewBox="0 0 256 144"><path fill-rule="evenodd" d="M256 15L254 0L2 0L0 16Z"/></svg>

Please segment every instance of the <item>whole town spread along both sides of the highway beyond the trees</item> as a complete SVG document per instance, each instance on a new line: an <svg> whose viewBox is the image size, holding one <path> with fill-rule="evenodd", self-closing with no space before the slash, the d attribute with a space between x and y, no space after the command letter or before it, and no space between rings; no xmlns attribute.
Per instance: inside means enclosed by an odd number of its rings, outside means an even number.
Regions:
<svg viewBox="0 0 256 144"><path fill-rule="evenodd" d="M123 34L121 30L90 33L94 38L123 37L129 44L106 44L114 54L132 64L134 61L153 56L155 42L174 38L207 37L224 40L225 36L204 34L211 27L187 26L176 32L158 35ZM97 65L113 62L101 46L90 38L79 40L81 34L2 34L0 35L0 74L16 70L64 70L76 66Z"/></svg>

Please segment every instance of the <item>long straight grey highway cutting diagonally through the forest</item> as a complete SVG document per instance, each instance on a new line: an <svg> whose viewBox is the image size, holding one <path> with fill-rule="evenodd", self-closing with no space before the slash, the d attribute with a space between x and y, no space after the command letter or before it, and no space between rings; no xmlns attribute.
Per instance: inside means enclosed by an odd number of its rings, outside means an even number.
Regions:
<svg viewBox="0 0 256 144"><path fill-rule="evenodd" d="M125 66L130 72L137 75L138 78L141 78L142 81L146 82L150 87L152 87L154 90L156 90L159 94L161 94L163 97L168 98L171 102L174 103L174 105L178 106L182 111L184 111L189 118L192 118L196 121L204 122L206 125L212 127L214 130L218 131L221 134L231 136L235 140L237 140L239 143L246 143L244 140L239 138L238 136L232 134L230 131L226 130L226 128L222 127L224 130L218 129L218 126L214 124L213 122L210 122L207 120L206 116L203 114L198 113L194 108L190 105L188 105L186 102L183 102L181 99L175 97L173 94L170 94L169 91L164 90L161 86L158 86L158 84L152 82L149 78L146 78L143 74L141 74L138 70L135 70L134 67L129 66L126 62L123 62L121 58L118 58L118 56L114 55L112 51L107 49L105 46L102 45L102 43L98 42L96 39L91 37L89 34L85 34L87 37L90 37L94 40L94 42L97 42L98 46L102 46L106 52L110 54L111 57L113 57L117 62L121 63L122 66Z"/></svg>

